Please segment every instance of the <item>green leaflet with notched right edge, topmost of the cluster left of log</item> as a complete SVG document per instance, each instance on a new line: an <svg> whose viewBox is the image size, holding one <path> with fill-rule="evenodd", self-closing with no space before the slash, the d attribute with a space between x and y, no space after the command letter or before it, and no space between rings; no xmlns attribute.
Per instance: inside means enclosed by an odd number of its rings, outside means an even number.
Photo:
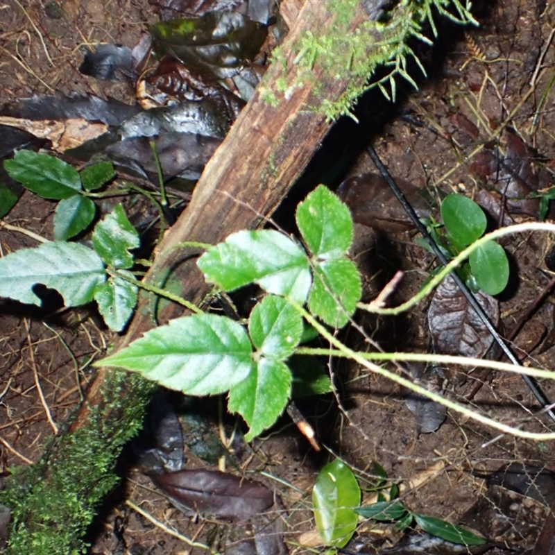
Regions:
<svg viewBox="0 0 555 555"><path fill-rule="evenodd" d="M121 205L96 224L92 234L92 246L105 264L114 268L133 266L133 255L128 250L140 244L139 234L127 219Z"/></svg>

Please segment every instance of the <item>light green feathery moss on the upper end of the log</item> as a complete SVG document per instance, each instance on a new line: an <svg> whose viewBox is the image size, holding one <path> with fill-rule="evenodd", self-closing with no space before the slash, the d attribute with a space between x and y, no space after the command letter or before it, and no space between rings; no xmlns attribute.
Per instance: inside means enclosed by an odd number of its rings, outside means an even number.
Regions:
<svg viewBox="0 0 555 555"><path fill-rule="evenodd" d="M289 83L283 70L284 76L278 78L275 88L282 93L308 83L314 97L319 99L311 109L324 114L329 120L349 114L359 96L371 87L379 87L389 99L394 99L395 78L398 76L416 87L407 73L407 62L411 58L418 65L420 62L409 41L416 37L430 42L422 35L422 24L430 22L435 35L433 10L461 24L475 23L470 15L468 0L401 0L388 12L384 22L367 20L351 29L352 14L357 11L359 1L326 0L326 3L327 9L335 15L334 25L326 30L325 35L305 31L300 36L294 50L294 63L299 66L296 80ZM274 51L272 60L285 67L281 49ZM348 81L349 85L339 99L325 98L321 82L314 78L316 63L327 78ZM371 78L380 66L390 71L379 81L372 82ZM277 96L274 93L272 100L275 102L275 99Z"/></svg>

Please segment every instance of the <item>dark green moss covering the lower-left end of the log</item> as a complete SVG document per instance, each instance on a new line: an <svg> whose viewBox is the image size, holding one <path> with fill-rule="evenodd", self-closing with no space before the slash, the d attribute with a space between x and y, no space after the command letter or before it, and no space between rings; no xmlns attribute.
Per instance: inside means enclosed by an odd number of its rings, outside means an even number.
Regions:
<svg viewBox="0 0 555 555"><path fill-rule="evenodd" d="M110 373L104 403L90 409L87 425L54 438L42 461L13 473L0 493L0 503L12 509L6 555L84 552L82 538L119 480L117 457L139 431L154 388L138 375Z"/></svg>

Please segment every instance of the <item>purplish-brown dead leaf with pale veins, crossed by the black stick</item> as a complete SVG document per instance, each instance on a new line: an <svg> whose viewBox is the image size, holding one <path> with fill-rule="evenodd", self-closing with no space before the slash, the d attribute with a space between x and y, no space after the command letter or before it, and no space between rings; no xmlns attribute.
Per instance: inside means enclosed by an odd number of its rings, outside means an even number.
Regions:
<svg viewBox="0 0 555 555"><path fill-rule="evenodd" d="M499 305L486 293L476 293L481 307L494 325L499 320ZM453 278L448 275L434 292L428 310L434 352L480 358L490 348L493 338L474 309L468 305Z"/></svg>

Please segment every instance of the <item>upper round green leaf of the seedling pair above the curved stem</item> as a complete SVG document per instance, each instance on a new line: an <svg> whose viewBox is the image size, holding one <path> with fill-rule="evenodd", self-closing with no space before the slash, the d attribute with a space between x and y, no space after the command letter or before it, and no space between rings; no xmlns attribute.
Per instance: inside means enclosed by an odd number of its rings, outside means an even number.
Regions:
<svg viewBox="0 0 555 555"><path fill-rule="evenodd" d="M457 248L479 239L486 231L484 210L464 195L448 195L441 203L441 218Z"/></svg>

